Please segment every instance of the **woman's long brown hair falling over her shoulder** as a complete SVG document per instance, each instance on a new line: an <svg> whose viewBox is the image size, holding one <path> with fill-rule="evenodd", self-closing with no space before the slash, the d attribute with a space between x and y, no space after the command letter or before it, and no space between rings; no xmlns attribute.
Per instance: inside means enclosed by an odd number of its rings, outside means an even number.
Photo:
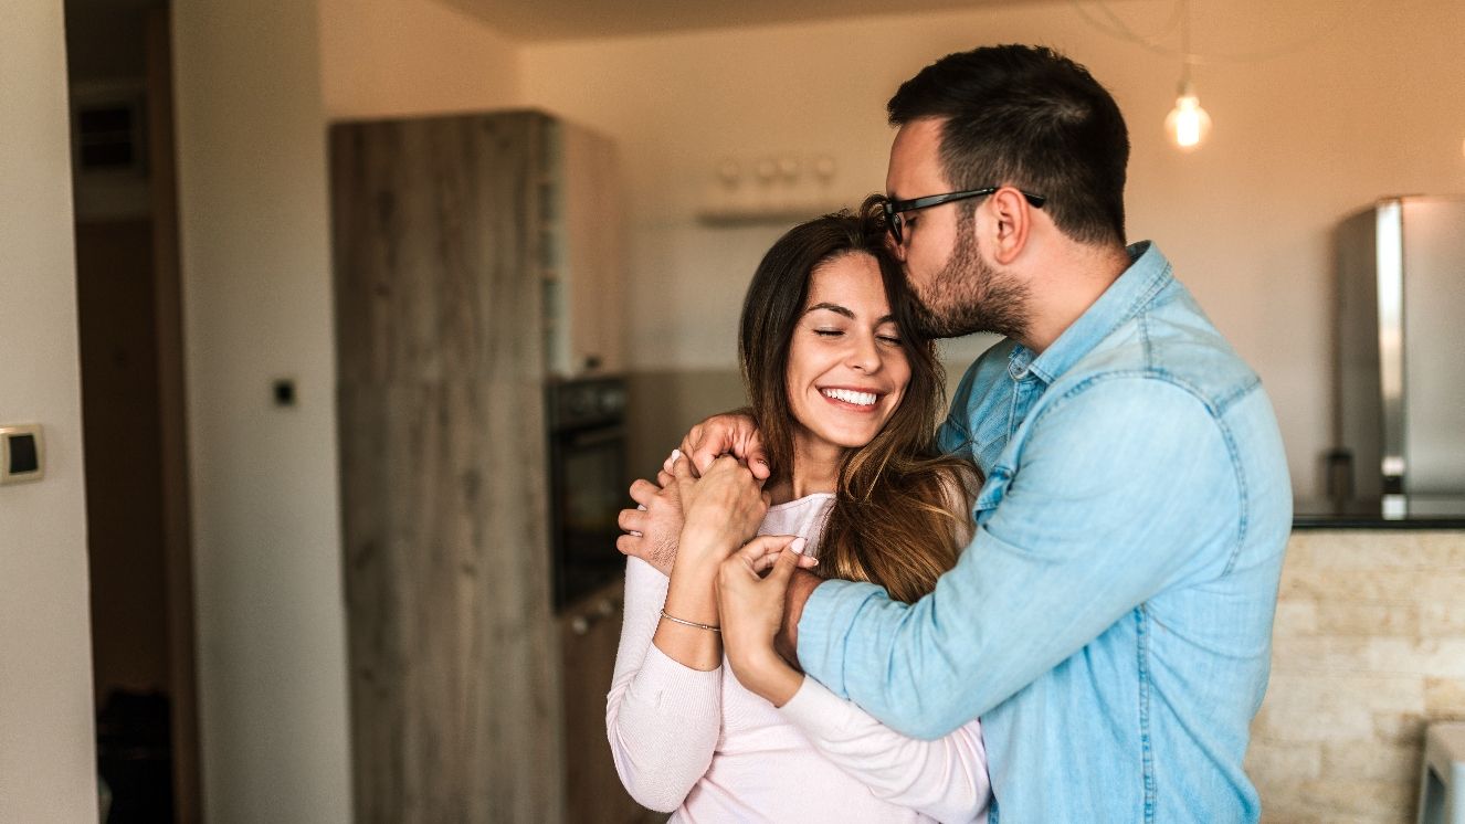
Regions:
<svg viewBox="0 0 1465 824"><path fill-rule="evenodd" d="M869 198L858 214L842 211L791 228L763 256L738 325L743 383L768 452L769 484L787 480L797 426L787 381L794 328L815 268L844 255L870 255L879 262L911 379L875 439L842 458L819 572L879 584L892 599L910 603L957 563L976 468L935 448L936 416L945 408L943 372L935 341L916 334L914 299L886 249L879 196Z"/></svg>

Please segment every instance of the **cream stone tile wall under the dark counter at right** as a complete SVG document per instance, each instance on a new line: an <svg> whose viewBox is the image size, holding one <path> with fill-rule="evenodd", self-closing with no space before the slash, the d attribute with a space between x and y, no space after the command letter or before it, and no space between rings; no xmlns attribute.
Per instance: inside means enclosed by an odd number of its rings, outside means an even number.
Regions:
<svg viewBox="0 0 1465 824"><path fill-rule="evenodd" d="M1465 533L1294 533L1247 754L1263 821L1412 823L1437 720L1465 720Z"/></svg>

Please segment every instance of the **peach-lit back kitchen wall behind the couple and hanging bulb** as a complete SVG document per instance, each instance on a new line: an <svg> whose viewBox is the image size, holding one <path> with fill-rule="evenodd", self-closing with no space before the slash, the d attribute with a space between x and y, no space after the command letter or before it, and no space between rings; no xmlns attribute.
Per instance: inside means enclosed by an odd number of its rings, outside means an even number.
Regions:
<svg viewBox="0 0 1465 824"><path fill-rule="evenodd" d="M1178 59L1096 32L1069 3L530 45L524 100L620 143L633 366L731 369L735 307L778 228L696 222L719 158L828 152L841 192L879 190L891 139L883 107L901 80L987 42L1064 50L1109 86L1130 121L1130 237L1160 243L1261 373L1305 495L1330 426L1329 231L1383 195L1465 190L1465 4L1191 6L1195 51L1292 50L1195 70L1216 126L1191 155L1162 130ZM1149 1L1110 7L1151 32L1169 12Z"/></svg>

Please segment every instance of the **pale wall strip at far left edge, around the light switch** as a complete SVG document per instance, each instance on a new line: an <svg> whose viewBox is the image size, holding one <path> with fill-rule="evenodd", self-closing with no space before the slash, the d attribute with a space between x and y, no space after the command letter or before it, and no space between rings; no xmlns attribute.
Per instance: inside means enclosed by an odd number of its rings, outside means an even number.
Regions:
<svg viewBox="0 0 1465 824"><path fill-rule="evenodd" d="M47 476L0 487L0 821L95 821L86 501L62 1L0 6L0 424Z"/></svg>

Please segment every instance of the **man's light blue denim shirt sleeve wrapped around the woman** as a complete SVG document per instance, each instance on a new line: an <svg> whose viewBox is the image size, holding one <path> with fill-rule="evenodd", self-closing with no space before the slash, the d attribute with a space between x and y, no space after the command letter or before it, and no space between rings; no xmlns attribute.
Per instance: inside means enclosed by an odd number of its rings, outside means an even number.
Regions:
<svg viewBox="0 0 1465 824"><path fill-rule="evenodd" d="M1001 492L999 506L932 594L904 604L850 581L813 591L798 622L809 675L897 730L939 738L1239 544L1225 432L1184 386L1096 379L1031 426L1017 468L998 467L977 501Z"/></svg>

